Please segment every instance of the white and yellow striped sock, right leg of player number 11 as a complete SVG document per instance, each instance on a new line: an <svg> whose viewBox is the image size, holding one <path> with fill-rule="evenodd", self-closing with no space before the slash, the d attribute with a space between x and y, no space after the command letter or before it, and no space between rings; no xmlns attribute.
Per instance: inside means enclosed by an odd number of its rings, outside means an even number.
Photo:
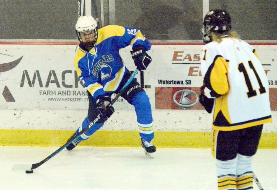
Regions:
<svg viewBox="0 0 277 190"><path fill-rule="evenodd" d="M238 154L237 189L253 189L252 156Z"/></svg>

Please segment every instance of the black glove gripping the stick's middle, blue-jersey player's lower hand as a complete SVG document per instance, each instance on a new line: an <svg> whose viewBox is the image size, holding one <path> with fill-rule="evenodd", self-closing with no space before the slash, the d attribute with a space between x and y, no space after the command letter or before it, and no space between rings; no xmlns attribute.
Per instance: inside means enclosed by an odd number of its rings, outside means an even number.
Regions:
<svg viewBox="0 0 277 190"><path fill-rule="evenodd" d="M108 106L111 103L111 97L98 96L96 99L97 110L101 114L97 123L103 123L108 120L109 117L115 112L113 106ZM108 106L108 107L107 107Z"/></svg>

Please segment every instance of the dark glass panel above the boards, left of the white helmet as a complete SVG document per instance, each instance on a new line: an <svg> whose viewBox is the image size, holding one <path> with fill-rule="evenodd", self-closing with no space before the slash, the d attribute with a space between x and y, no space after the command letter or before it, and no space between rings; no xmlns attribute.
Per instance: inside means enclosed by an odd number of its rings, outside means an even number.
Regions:
<svg viewBox="0 0 277 190"><path fill-rule="evenodd" d="M91 1L91 14L100 17L100 0ZM0 38L76 39L77 17L76 0L1 0Z"/></svg>

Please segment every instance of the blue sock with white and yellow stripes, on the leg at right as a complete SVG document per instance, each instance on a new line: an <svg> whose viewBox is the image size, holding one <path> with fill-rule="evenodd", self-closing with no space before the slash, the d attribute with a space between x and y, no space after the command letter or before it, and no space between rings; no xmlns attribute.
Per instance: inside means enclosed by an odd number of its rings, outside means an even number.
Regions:
<svg viewBox="0 0 277 190"><path fill-rule="evenodd" d="M150 141L154 138L153 118L149 97L145 92L139 92L131 100L134 106L139 125L139 135L142 139Z"/></svg>

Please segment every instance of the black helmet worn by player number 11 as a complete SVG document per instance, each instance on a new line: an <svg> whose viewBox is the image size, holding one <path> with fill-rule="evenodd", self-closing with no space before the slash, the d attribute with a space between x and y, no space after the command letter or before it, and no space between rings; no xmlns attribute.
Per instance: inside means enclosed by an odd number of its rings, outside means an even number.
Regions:
<svg viewBox="0 0 277 190"><path fill-rule="evenodd" d="M212 33L225 34L231 30L231 18L226 10L212 9L204 17L202 35L203 41L211 42Z"/></svg>

